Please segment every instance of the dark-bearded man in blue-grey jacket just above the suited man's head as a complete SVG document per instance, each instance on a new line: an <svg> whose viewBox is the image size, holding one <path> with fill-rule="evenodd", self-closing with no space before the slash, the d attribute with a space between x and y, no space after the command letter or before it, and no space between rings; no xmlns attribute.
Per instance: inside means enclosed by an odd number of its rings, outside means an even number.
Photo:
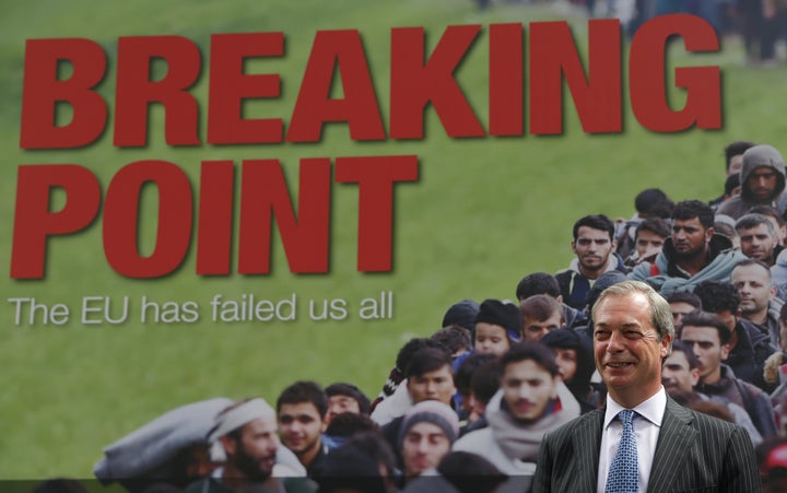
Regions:
<svg viewBox="0 0 787 493"><path fill-rule="evenodd" d="M672 234L655 262L642 262L629 279L646 281L667 296L692 291L702 281L729 282L732 268L745 256L732 243L714 235L714 212L700 200L679 202L672 211Z"/></svg>

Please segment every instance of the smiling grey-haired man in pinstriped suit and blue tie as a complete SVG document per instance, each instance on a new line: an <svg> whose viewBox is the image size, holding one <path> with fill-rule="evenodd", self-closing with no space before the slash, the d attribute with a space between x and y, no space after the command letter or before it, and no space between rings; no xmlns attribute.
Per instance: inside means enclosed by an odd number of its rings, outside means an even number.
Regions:
<svg viewBox="0 0 787 493"><path fill-rule="evenodd" d="M647 284L626 281L601 294L592 319L607 404L544 436L533 491L610 491L621 469L633 471L630 493L762 491L747 432L666 395L661 363L674 337L667 302ZM633 425L623 418L629 410ZM633 458L621 459L621 443L629 454L635 449ZM629 466L619 468L621 460Z"/></svg>

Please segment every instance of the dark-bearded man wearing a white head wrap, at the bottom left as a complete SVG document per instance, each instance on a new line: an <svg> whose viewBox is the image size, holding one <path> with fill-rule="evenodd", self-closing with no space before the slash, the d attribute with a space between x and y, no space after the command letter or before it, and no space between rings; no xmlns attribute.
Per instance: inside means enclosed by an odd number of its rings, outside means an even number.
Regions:
<svg viewBox="0 0 787 493"><path fill-rule="evenodd" d="M191 483L187 493L230 493L257 488L286 493L315 491L307 480L295 477L298 472L281 463L279 456L284 447L280 447L277 435L275 411L262 398L239 401L220 412L208 439L214 444L214 450L224 453L226 461L212 477Z"/></svg>

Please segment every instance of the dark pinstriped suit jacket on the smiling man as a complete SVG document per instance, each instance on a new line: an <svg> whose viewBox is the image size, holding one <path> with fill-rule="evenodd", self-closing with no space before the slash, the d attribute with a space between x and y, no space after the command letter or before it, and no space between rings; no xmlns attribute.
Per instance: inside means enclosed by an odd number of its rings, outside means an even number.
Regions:
<svg viewBox="0 0 787 493"><path fill-rule="evenodd" d="M544 436L533 492L595 492L604 409ZM648 492L761 492L749 434L667 397Z"/></svg>

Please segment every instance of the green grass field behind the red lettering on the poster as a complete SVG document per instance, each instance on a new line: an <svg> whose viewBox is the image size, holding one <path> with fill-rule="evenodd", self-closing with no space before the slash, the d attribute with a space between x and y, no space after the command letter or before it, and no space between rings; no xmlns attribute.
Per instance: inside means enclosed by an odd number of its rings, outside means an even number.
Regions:
<svg viewBox="0 0 787 493"><path fill-rule="evenodd" d="M709 56L686 56L673 47L678 64L723 68L724 128L658 134L639 127L626 109L619 134L585 134L576 113L565 110L560 137L456 140L427 111L427 138L421 141L353 142L346 128L330 125L319 144L167 148L163 111L152 111L145 149L111 145L111 125L96 143L74 151L19 149L24 46L27 38L85 37L109 56L102 94L111 113L117 39L129 35L176 34L197 43L209 60L213 33L281 31L285 56L250 64L281 74L279 101L249 105L249 115L285 120L294 105L315 33L360 30L384 114L388 114L390 28L423 26L432 47L453 24L525 23L563 19L550 5L501 2L479 13L470 0L336 0L267 2L238 0L90 0L7 2L0 20L0 479L54 476L91 477L102 447L166 410L214 396L263 396L273 401L296 379L327 385L350 380L369 396L378 392L404 340L437 329L445 309L462 298L513 297L518 280L537 270L554 272L571 259L571 226L582 215L603 212L629 216L634 196L660 187L674 200L716 197L724 183L723 148L737 139L784 146L787 99L780 94L787 70L754 70L741 64L735 39ZM575 38L586 42L582 12L567 14ZM458 80L482 120L488 94L486 46L482 32ZM207 111L207 67L195 87ZM571 99L567 99L568 102ZM678 96L680 101L680 96ZM624 105L627 108L627 105ZM202 118L204 122L204 117ZM204 127L200 129L204 136ZM172 161L185 169L197 190L203 160L278 159L291 189L302 157L416 154L420 180L396 188L393 270L355 269L357 189L332 187L330 273L293 274L281 242L273 240L269 275L200 278L191 254L176 273L157 280L126 279L108 266L102 223L48 243L47 274L40 281L10 279L16 169L21 164L74 163L98 176L104 190L127 163ZM60 197L62 199L62 197ZM142 208L142 245L154 245L155 200ZM393 293L392 319L362 320L362 300ZM297 298L297 318L281 322L212 322L208 302L215 294L244 294L280 301ZM83 325L79 316L62 326L37 319L14 322L15 297L64 304L79 310L84 296L130 301L130 320ZM158 303L192 301L201 307L193 324L142 324L142 296ZM346 319L309 319L308 301L341 298ZM114 305L117 309L117 305ZM137 312L134 312L137 310Z"/></svg>

